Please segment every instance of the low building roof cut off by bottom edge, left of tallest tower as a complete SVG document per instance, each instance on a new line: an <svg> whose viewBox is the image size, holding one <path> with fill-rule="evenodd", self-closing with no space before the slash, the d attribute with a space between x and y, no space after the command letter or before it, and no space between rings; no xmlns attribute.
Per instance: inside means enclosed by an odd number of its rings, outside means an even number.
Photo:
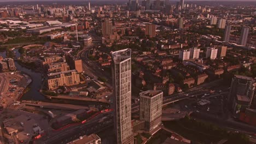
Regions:
<svg viewBox="0 0 256 144"><path fill-rule="evenodd" d="M89 136L80 136L79 139L68 142L67 144L101 144L101 138L96 134L91 134Z"/></svg>

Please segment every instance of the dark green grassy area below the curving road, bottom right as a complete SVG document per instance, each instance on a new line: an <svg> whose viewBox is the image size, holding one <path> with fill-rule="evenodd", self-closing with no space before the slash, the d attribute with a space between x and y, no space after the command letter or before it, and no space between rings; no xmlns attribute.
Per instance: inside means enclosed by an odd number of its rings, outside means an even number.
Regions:
<svg viewBox="0 0 256 144"><path fill-rule="evenodd" d="M248 137L243 134L228 133L223 128L212 123L197 122L194 119L185 117L179 121L163 122L165 127L184 136L191 141L201 143L218 142L222 139L228 139L231 142L248 143ZM235 143L234 143L235 144Z"/></svg>

